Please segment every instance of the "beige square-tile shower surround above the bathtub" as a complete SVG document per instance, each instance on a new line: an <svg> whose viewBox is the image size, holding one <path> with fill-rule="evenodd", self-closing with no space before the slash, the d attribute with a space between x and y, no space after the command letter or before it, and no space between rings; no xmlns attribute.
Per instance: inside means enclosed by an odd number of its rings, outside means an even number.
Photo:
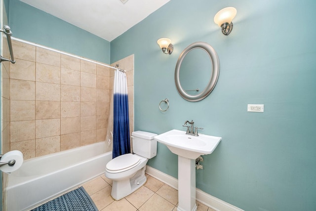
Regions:
<svg viewBox="0 0 316 211"><path fill-rule="evenodd" d="M24 42L12 45L16 63L2 76L9 81L9 96L2 94L10 107L9 150L30 159L104 141L114 70ZM133 131L134 55L115 64L127 72Z"/></svg>

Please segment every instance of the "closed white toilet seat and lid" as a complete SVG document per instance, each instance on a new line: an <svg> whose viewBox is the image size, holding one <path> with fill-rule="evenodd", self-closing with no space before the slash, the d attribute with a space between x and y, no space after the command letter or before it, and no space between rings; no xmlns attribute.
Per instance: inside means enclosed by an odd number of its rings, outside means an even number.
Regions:
<svg viewBox="0 0 316 211"><path fill-rule="evenodd" d="M106 166L110 173L119 173L134 168L140 163L140 158L133 154L124 154L112 159Z"/></svg>

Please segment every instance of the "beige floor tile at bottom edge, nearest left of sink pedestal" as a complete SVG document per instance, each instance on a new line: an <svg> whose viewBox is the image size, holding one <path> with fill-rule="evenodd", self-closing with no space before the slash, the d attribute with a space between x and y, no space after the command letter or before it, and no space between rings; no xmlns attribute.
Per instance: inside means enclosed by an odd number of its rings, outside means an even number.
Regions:
<svg viewBox="0 0 316 211"><path fill-rule="evenodd" d="M154 194L142 207L139 211L172 211L174 205L163 199L158 194Z"/></svg>

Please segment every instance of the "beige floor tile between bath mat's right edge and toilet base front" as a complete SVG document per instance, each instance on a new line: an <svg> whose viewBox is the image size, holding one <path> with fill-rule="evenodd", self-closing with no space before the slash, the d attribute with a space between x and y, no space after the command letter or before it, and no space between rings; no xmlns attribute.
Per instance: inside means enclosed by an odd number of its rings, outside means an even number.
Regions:
<svg viewBox="0 0 316 211"><path fill-rule="evenodd" d="M111 197L111 190L112 190L112 187L108 185L107 187L103 188L102 190L90 196L99 211L104 209L105 207L107 207L108 205L110 205L112 202L115 201Z"/></svg>

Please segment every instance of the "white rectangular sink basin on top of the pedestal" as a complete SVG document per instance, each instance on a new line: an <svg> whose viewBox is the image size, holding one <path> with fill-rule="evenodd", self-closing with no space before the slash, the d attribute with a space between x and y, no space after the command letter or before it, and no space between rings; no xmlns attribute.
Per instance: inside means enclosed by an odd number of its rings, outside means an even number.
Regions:
<svg viewBox="0 0 316 211"><path fill-rule="evenodd" d="M172 153L190 159L211 154L222 140L221 137L204 134L193 136L177 129L156 135L155 139L166 145Z"/></svg>

